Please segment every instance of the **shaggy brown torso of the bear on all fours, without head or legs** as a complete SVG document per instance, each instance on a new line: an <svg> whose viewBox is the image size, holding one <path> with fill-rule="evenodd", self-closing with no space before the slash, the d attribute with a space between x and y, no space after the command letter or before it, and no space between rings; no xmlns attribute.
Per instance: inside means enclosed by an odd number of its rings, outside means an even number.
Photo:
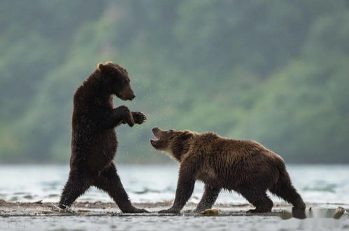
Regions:
<svg viewBox="0 0 349 231"><path fill-rule="evenodd" d="M201 181L229 190L257 181L267 180L273 184L278 179L280 167L285 167L280 156L258 142L203 135L194 142L199 145L196 148L201 165L197 179Z"/></svg>

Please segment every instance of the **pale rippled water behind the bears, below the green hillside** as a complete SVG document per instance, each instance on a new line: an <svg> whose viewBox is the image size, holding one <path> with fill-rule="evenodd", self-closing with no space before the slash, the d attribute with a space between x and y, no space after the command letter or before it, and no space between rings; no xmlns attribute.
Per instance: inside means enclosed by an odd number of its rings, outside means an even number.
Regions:
<svg viewBox="0 0 349 231"><path fill-rule="evenodd" d="M0 199L57 202L68 175L68 165L0 165ZM294 186L306 202L349 204L349 165L288 165ZM173 200L178 165L119 165L118 172L132 202ZM191 202L198 202L203 184L197 183ZM90 188L78 200L111 202ZM280 199L272 197L274 202ZM223 192L220 203L245 203L237 193Z"/></svg>

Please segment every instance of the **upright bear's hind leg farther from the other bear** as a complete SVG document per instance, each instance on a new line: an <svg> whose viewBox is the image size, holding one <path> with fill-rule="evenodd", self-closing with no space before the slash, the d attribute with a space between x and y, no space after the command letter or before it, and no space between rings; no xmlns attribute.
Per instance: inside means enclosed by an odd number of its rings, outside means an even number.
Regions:
<svg viewBox="0 0 349 231"><path fill-rule="evenodd" d="M59 201L59 208L66 209L70 207L80 195L83 195L83 193L90 188L90 186L87 180L78 177L78 173L72 174L70 172L69 179L64 186L61 200Z"/></svg>

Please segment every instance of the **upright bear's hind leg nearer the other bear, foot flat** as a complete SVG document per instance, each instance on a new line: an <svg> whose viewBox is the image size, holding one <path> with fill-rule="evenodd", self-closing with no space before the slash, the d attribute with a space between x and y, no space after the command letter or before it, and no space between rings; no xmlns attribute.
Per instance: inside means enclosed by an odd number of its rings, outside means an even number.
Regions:
<svg viewBox="0 0 349 231"><path fill-rule="evenodd" d="M120 177L117 175L115 165L108 167L94 182L94 186L106 191L113 198L119 209L123 213L144 213L145 209L137 209L134 207L122 186Z"/></svg>

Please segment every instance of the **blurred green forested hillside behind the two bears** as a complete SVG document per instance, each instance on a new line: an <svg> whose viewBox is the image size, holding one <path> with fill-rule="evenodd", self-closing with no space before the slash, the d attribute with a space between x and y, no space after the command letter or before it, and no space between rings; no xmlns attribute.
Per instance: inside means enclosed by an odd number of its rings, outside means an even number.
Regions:
<svg viewBox="0 0 349 231"><path fill-rule="evenodd" d="M0 163L67 163L76 88L127 68L141 126L117 162L171 161L151 128L257 140L289 163L349 162L349 1L0 1Z"/></svg>

